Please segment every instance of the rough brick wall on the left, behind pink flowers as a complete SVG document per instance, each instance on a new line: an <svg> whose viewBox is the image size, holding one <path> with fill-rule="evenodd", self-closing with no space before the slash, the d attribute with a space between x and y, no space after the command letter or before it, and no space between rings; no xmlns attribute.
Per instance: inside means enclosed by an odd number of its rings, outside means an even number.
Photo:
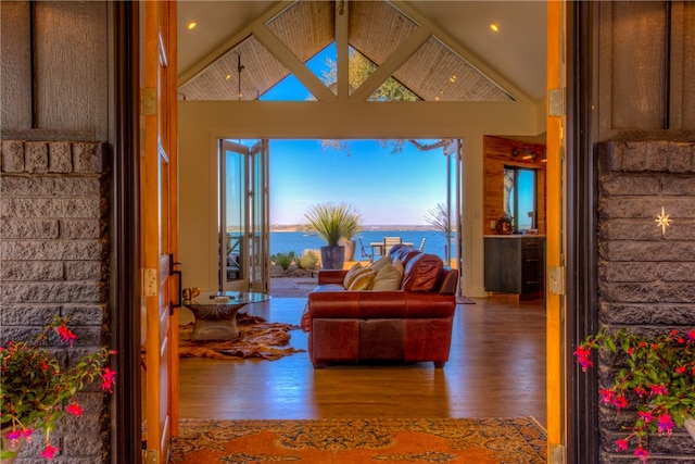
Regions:
<svg viewBox="0 0 695 464"><path fill-rule="evenodd" d="M1 142L0 346L31 339L55 315L70 317L78 336L66 355L108 344L106 171L101 143ZM96 386L79 399L84 416L64 416L51 435L61 448L56 461L102 463L106 398ZM17 463L45 462L34 457L38 438Z"/></svg>

